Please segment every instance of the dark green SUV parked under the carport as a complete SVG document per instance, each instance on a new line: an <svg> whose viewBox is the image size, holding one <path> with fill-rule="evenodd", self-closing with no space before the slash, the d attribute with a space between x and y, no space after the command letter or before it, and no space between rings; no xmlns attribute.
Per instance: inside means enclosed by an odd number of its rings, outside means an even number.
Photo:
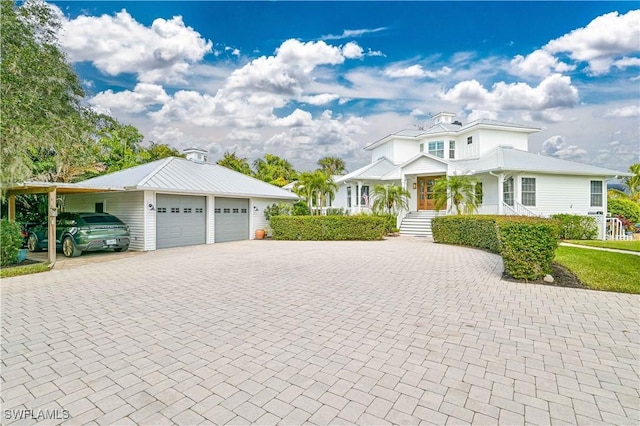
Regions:
<svg viewBox="0 0 640 426"><path fill-rule="evenodd" d="M41 251L49 244L47 225L31 229L27 238L29 251ZM108 213L60 213L56 220L56 248L67 257L83 251L129 249L129 227Z"/></svg>

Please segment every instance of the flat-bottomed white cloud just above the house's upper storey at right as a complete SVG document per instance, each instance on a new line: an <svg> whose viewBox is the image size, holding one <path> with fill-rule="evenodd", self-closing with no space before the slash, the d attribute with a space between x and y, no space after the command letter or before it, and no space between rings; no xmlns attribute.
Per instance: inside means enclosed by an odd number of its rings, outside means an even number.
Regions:
<svg viewBox="0 0 640 426"><path fill-rule="evenodd" d="M440 98L463 104L465 109L471 110L541 111L574 106L578 102L578 90L572 86L570 77L553 74L537 87L526 83L498 82L491 91L476 80L463 81L442 92Z"/></svg>

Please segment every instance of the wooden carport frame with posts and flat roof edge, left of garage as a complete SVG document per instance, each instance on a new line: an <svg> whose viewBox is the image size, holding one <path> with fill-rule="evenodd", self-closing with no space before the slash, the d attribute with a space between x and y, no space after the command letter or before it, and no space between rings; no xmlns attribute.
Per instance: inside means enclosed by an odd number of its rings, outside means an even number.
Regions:
<svg viewBox="0 0 640 426"><path fill-rule="evenodd" d="M8 219L11 222L16 220L16 195L21 194L48 194L47 208L47 230L49 246L47 247L47 257L49 264L56 263L56 217L58 216L57 197L58 194L86 194L92 192L124 191L124 188L105 188L98 186L85 186L75 183L63 182L23 182L17 185L4 188L8 201Z"/></svg>

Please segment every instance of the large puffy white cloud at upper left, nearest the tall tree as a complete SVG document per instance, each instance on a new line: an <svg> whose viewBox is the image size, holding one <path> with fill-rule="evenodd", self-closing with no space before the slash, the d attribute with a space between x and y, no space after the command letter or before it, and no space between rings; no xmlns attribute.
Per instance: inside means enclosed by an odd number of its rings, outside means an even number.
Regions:
<svg viewBox="0 0 640 426"><path fill-rule="evenodd" d="M190 64L212 47L181 16L145 27L124 9L115 16L64 20L59 39L72 62L89 61L109 75L134 73L147 83L184 81Z"/></svg>

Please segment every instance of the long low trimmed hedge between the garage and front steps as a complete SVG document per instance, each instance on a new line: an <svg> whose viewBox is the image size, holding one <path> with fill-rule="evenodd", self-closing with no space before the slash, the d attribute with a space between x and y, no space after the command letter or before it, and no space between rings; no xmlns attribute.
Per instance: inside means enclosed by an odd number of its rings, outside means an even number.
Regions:
<svg viewBox="0 0 640 426"><path fill-rule="evenodd" d="M379 216L272 216L274 240L381 240L385 219Z"/></svg>

